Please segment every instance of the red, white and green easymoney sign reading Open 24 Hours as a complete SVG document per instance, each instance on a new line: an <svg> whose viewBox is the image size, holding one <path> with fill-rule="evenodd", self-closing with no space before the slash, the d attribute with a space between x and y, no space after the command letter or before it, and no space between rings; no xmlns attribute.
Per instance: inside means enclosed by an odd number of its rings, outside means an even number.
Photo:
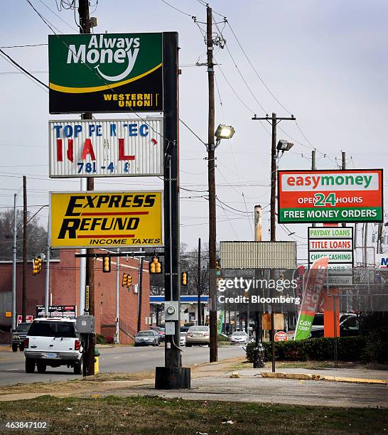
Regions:
<svg viewBox="0 0 388 435"><path fill-rule="evenodd" d="M382 222L382 169L279 171L279 222Z"/></svg>

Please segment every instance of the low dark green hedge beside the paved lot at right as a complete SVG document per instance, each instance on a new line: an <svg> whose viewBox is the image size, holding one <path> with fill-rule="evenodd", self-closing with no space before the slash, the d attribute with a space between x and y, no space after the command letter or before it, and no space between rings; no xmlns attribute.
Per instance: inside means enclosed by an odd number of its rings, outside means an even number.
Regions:
<svg viewBox="0 0 388 435"><path fill-rule="evenodd" d="M277 341L275 343L275 358L281 361L327 361L334 358L334 338L308 338L298 341ZM365 337L338 338L338 360L360 361L370 360L366 352L371 343ZM264 358L271 360L271 343L264 342ZM247 360L253 363L255 343L247 345Z"/></svg>

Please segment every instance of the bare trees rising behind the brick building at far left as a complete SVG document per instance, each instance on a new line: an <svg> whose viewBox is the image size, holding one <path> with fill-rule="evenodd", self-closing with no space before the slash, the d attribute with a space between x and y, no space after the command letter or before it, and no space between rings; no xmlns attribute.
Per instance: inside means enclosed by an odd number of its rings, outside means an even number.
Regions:
<svg viewBox="0 0 388 435"><path fill-rule="evenodd" d="M47 230L33 218L28 222L28 258L45 252L47 246ZM16 258L23 257L23 211L16 212ZM14 239L14 210L0 213L0 260L12 259L12 245Z"/></svg>

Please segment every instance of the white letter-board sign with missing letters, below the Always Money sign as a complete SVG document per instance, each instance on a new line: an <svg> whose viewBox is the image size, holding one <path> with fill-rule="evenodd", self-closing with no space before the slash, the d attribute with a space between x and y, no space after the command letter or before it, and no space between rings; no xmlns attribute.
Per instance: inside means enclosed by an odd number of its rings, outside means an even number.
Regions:
<svg viewBox="0 0 388 435"><path fill-rule="evenodd" d="M163 175L163 119L49 121L50 177Z"/></svg>

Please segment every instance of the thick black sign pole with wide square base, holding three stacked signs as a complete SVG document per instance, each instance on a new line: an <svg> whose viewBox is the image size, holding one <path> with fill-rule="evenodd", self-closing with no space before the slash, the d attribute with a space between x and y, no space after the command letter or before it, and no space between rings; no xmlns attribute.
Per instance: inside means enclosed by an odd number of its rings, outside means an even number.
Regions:
<svg viewBox="0 0 388 435"><path fill-rule="evenodd" d="M164 100L164 262L166 306L178 308L166 321L165 367L156 367L155 388L190 388L190 368L182 367L180 355L180 254L179 254L179 148L178 148L178 33L163 33ZM174 310L175 311L175 310ZM171 330L168 331L168 326ZM170 332L170 333L168 333Z"/></svg>

